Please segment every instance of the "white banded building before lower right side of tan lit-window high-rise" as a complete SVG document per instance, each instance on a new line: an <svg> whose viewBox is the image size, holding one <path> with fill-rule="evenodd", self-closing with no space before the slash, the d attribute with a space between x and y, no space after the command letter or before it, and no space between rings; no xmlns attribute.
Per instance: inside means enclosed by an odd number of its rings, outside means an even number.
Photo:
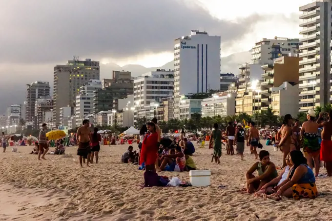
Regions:
<svg viewBox="0 0 332 221"><path fill-rule="evenodd" d="M82 93L76 96L75 118L76 125L81 125L81 119L93 113L93 93Z"/></svg>

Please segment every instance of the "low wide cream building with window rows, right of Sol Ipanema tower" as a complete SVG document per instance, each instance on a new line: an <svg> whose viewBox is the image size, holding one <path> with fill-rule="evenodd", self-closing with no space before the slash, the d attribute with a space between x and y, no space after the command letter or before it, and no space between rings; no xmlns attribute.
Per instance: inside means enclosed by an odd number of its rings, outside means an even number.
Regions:
<svg viewBox="0 0 332 221"><path fill-rule="evenodd" d="M221 92L203 99L201 102L202 117L235 115L235 97L236 93Z"/></svg>

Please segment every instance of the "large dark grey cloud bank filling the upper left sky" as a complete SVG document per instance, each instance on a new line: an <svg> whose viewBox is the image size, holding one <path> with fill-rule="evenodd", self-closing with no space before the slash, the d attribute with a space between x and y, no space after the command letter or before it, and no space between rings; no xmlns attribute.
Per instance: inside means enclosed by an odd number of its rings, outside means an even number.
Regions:
<svg viewBox="0 0 332 221"><path fill-rule="evenodd" d="M2 0L0 62L41 63L72 58L121 58L170 51L174 39L206 30L228 42L261 20L213 18L183 0ZM190 3L187 5L186 3Z"/></svg>

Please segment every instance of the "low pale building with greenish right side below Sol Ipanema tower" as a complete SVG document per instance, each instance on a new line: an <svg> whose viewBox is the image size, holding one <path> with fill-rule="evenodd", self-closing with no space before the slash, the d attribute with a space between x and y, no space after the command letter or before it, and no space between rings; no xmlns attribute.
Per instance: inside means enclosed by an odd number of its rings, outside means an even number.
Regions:
<svg viewBox="0 0 332 221"><path fill-rule="evenodd" d="M179 120L191 119L193 114L201 114L202 99L189 99L185 95L180 96Z"/></svg>

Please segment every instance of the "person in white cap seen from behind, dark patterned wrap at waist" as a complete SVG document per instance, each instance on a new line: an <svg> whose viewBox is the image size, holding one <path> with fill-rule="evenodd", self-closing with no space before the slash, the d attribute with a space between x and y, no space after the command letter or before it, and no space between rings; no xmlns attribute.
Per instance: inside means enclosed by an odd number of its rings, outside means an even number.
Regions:
<svg viewBox="0 0 332 221"><path fill-rule="evenodd" d="M318 141L318 123L315 121L316 112L309 110L307 113L308 121L302 124L301 136L304 154L307 158L308 165L312 169L312 159L315 163L315 176L319 174L319 154L320 145Z"/></svg>

